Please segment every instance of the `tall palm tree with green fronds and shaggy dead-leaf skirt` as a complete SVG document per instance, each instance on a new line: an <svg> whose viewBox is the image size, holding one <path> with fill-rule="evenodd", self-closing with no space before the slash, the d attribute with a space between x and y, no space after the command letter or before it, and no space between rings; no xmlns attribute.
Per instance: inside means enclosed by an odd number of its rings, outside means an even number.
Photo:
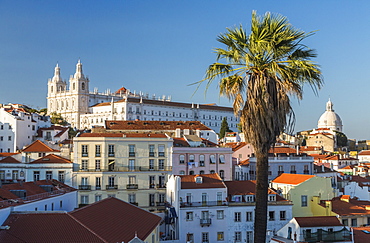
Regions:
<svg viewBox="0 0 370 243"><path fill-rule="evenodd" d="M276 137L294 125L290 95L302 99L303 85L322 86L321 71L310 61L314 50L302 44L313 33L294 28L286 17L252 13L251 30L228 28L217 41L217 61L206 71L206 89L220 78L220 95L233 101L246 139L257 159L254 242L265 242L267 225L268 151ZM220 63L224 61L225 63Z"/></svg>

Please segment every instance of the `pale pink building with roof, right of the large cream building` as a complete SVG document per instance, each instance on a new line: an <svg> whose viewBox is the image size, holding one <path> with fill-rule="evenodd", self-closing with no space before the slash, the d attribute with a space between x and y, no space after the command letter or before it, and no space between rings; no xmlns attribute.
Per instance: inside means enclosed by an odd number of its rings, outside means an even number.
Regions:
<svg viewBox="0 0 370 243"><path fill-rule="evenodd" d="M218 173L225 180L232 180L232 149L220 148L195 135L174 138L172 148L174 175Z"/></svg>

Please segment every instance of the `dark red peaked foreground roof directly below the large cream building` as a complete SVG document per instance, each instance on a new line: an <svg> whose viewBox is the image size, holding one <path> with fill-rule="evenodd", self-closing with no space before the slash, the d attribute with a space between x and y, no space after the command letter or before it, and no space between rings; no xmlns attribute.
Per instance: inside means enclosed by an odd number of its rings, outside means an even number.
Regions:
<svg viewBox="0 0 370 243"><path fill-rule="evenodd" d="M161 222L161 217L114 197L79 208L70 215L112 243L129 242L135 233L145 240Z"/></svg>

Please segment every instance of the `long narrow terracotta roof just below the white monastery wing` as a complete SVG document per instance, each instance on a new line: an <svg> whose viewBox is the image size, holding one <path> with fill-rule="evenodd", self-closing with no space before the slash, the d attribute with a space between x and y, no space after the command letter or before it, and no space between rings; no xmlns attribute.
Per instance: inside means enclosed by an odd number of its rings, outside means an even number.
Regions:
<svg viewBox="0 0 370 243"><path fill-rule="evenodd" d="M107 130L212 130L200 121L105 121Z"/></svg>

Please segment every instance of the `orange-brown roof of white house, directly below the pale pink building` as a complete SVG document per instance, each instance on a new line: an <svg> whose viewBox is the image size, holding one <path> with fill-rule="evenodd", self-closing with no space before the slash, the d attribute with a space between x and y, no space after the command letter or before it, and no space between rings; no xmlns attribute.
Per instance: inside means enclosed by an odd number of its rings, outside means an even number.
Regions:
<svg viewBox="0 0 370 243"><path fill-rule="evenodd" d="M202 177L202 183L196 183L195 178ZM180 175L181 189L198 189L198 188L225 188L225 183L217 174L203 175Z"/></svg>

